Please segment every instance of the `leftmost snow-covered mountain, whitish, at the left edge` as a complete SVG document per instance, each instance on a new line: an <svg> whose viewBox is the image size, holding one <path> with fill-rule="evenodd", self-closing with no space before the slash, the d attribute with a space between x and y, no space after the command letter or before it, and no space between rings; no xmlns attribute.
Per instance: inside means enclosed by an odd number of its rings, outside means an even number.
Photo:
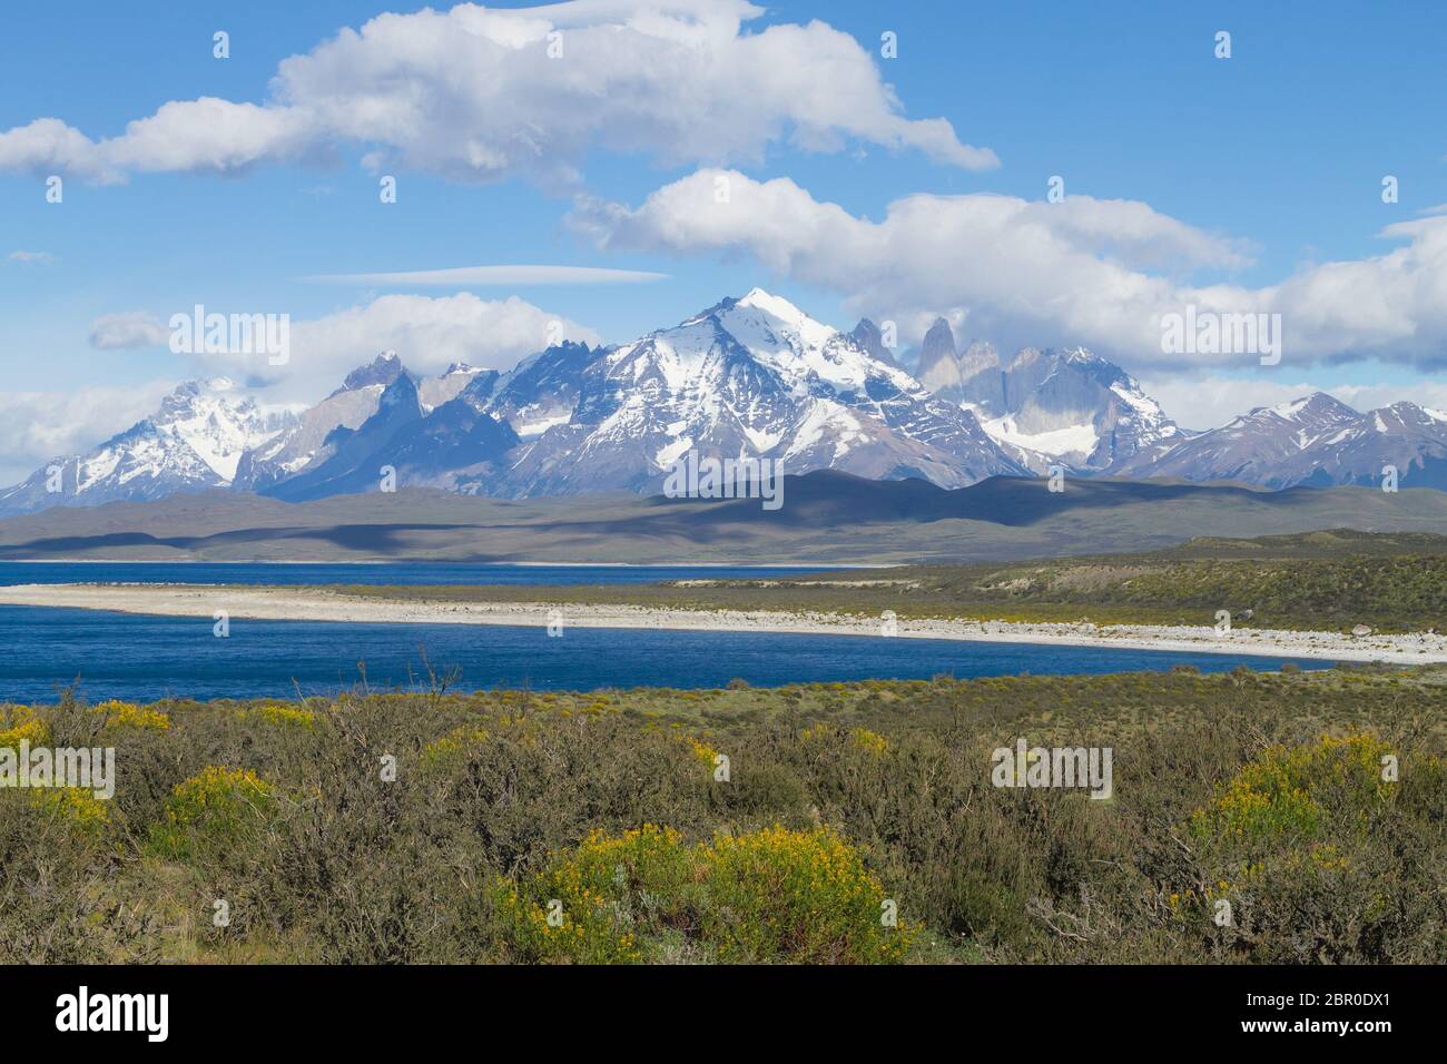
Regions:
<svg viewBox="0 0 1447 1064"><path fill-rule="evenodd" d="M291 423L291 414L263 413L224 378L190 381L126 431L84 455L55 457L0 491L0 514L226 486L249 449L284 434Z"/></svg>

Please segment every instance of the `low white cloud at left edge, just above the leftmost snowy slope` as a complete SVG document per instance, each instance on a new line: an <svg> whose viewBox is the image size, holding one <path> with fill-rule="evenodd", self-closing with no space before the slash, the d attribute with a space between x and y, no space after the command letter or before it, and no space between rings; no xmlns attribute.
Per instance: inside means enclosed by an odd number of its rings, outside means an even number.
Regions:
<svg viewBox="0 0 1447 1064"><path fill-rule="evenodd" d="M74 392L0 392L0 485L124 431L153 413L172 388L174 381L149 381Z"/></svg>

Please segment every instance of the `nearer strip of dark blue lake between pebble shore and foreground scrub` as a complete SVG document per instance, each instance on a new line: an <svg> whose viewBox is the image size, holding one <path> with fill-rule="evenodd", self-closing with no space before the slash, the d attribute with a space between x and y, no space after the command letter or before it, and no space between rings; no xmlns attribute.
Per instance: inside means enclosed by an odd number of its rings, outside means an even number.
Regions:
<svg viewBox="0 0 1447 1064"><path fill-rule="evenodd" d="M216 638L210 618L143 617L90 609L0 607L0 701L54 701L78 680L91 699L166 695L249 698L324 695L352 688L359 663L373 688L411 688L457 672L457 688L719 688L738 676L755 686L812 680L928 679L1032 673L1278 669L1282 659L1176 654L1010 643L635 631L543 625L331 624L232 618ZM1324 663L1315 663L1317 666ZM1302 667L1312 667L1302 660Z"/></svg>

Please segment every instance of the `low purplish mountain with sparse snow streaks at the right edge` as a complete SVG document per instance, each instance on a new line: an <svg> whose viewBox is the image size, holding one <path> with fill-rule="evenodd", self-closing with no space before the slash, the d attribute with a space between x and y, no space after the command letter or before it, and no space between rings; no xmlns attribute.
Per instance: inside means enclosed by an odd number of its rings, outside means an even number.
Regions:
<svg viewBox="0 0 1447 1064"><path fill-rule="evenodd" d="M1291 488L1380 484L1385 466L1398 470L1402 488L1447 488L1447 413L1396 402L1359 414L1315 392L1257 407L1119 472Z"/></svg>

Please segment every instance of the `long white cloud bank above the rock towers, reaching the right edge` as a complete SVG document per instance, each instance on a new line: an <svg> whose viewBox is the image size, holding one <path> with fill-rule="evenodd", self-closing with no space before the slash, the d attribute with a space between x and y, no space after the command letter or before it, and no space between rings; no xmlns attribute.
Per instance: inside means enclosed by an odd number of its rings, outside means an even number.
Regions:
<svg viewBox="0 0 1447 1064"><path fill-rule="evenodd" d="M721 194L719 190L724 190ZM1447 360L1447 214L1383 230L1402 246L1305 268L1266 288L1191 284L1229 271L1249 248L1146 204L1072 195L910 195L880 221L815 200L787 178L702 169L638 207L579 198L572 226L601 248L748 255L794 281L845 295L851 310L901 333L938 314L1001 346L1087 345L1134 366L1204 368L1257 353L1168 355L1162 321L1187 307L1281 314L1283 360ZM1162 269L1169 266L1169 269Z"/></svg>

